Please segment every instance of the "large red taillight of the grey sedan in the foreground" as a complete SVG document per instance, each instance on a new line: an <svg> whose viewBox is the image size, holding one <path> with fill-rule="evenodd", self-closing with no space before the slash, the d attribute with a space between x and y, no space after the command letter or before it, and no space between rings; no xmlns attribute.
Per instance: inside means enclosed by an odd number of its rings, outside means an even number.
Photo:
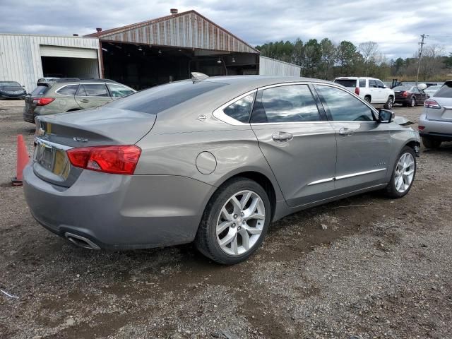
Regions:
<svg viewBox="0 0 452 339"><path fill-rule="evenodd" d="M66 151L75 167L113 174L133 174L141 155L136 145L94 146Z"/></svg>

